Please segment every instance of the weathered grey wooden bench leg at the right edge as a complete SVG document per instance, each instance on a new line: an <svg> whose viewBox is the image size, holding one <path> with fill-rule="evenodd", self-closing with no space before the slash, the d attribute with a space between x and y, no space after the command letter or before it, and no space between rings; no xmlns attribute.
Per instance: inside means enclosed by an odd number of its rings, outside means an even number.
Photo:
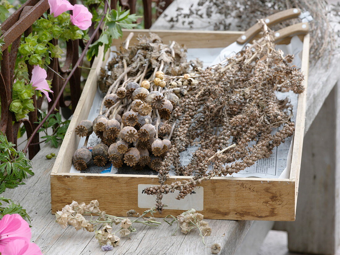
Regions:
<svg viewBox="0 0 340 255"><path fill-rule="evenodd" d="M339 247L339 96L337 85L305 135L296 221L275 223L288 231L293 252L336 254Z"/></svg>

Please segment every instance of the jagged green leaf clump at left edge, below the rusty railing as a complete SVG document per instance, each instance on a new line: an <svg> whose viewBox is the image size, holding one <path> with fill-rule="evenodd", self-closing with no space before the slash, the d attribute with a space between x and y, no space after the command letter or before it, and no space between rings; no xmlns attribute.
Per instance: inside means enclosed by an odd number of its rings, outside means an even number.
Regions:
<svg viewBox="0 0 340 255"><path fill-rule="evenodd" d="M6 136L0 133L0 194L6 188L15 188L25 184L23 179L34 175L31 170L31 161L22 151L17 151L14 144L7 141Z"/></svg>

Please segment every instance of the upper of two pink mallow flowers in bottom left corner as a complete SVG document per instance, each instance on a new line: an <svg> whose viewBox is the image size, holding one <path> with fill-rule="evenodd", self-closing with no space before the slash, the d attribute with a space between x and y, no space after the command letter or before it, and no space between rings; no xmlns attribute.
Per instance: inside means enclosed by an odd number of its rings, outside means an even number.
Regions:
<svg viewBox="0 0 340 255"><path fill-rule="evenodd" d="M19 214L6 214L0 220L0 252L14 240L31 239L29 224Z"/></svg>

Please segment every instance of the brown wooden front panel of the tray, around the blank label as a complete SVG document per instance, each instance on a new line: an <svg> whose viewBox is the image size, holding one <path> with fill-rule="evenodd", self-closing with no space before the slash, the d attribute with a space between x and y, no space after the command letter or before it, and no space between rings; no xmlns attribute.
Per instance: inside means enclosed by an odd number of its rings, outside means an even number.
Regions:
<svg viewBox="0 0 340 255"><path fill-rule="evenodd" d="M169 178L169 182L175 180L176 178ZM138 208L138 184L157 185L158 178L52 173L52 213L61 210L72 200L88 203L95 199L99 201L101 210L116 216L126 216L126 211L130 209L142 212L148 208ZM214 178L200 185L204 187L204 208L201 213L207 219L295 219L294 181ZM163 216L179 215L182 212L165 210Z"/></svg>

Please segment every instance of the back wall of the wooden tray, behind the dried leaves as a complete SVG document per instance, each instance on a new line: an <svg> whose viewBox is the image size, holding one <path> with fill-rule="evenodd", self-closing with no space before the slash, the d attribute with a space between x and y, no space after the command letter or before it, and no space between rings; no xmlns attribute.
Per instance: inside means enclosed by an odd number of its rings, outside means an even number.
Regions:
<svg viewBox="0 0 340 255"><path fill-rule="evenodd" d="M236 41L243 34L238 31L194 31L194 30L149 30L149 29L126 29L123 30L125 38L134 32L135 36L130 41L130 45L137 43L137 35L149 35L149 33L157 34L164 43L176 41L179 44L185 44L187 48L219 48L226 47ZM121 39L113 40L113 45L122 43Z"/></svg>

